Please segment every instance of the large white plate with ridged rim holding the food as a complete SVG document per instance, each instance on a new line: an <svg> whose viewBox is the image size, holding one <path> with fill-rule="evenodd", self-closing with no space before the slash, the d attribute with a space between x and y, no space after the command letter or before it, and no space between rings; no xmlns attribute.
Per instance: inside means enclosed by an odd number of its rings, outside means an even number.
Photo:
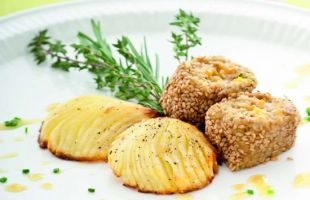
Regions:
<svg viewBox="0 0 310 200"><path fill-rule="evenodd" d="M35 9L4 17L0 20L0 121L20 116L26 119L44 117L47 105L63 102L72 97L99 93L89 74L65 73L53 70L46 63L37 66L27 52L26 45L38 30L48 28L54 38L68 43L75 41L78 30L90 33L89 19L102 22L109 41L128 35L140 43L147 37L152 53L161 58L162 74L171 75L177 66L168 40L168 23L178 8L193 11L202 22L200 34L203 46L193 55L221 54L249 66L256 74L258 89L277 96L291 98L302 115L310 102L309 78L304 78L295 89L284 85L295 78L297 66L310 63L310 13L264 1L88 1ZM8 172L9 183L25 184L25 192L13 194L0 185L0 199L105 199L105 200L160 200L175 199L174 195L143 194L122 186L105 163L87 164L55 158L41 150L36 142L39 124L0 132L0 155L16 152L18 156L0 159L0 168ZM246 182L254 174L266 175L274 187L274 199L308 199L310 189L292 186L295 176L310 171L309 124L300 126L295 146L279 156L277 161L257 167L230 172L225 166L208 187L190 193L193 199L229 199L234 193L231 186ZM14 138L21 135L23 141ZM294 158L287 161L287 157ZM42 162L50 162L44 166ZM51 170L59 167L62 173ZM30 182L21 174L22 168L43 173L44 179ZM54 189L44 191L44 182ZM88 187L96 188L89 194ZM254 195L252 199L260 199Z"/></svg>

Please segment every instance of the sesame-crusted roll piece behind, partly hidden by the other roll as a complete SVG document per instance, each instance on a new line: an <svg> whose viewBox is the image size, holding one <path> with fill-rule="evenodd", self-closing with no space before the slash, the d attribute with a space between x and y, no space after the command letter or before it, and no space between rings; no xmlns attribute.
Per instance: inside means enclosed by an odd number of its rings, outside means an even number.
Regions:
<svg viewBox="0 0 310 200"><path fill-rule="evenodd" d="M246 67L221 56L197 57L178 66L160 103L166 115L201 125L210 106L256 85Z"/></svg>

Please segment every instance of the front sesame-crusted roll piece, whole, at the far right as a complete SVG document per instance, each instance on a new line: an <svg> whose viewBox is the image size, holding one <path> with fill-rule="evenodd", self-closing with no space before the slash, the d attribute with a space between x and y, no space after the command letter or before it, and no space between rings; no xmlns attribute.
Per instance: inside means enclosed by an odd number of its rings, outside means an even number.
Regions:
<svg viewBox="0 0 310 200"><path fill-rule="evenodd" d="M300 115L288 99L244 93L213 105L206 135L232 171L272 160L290 149Z"/></svg>

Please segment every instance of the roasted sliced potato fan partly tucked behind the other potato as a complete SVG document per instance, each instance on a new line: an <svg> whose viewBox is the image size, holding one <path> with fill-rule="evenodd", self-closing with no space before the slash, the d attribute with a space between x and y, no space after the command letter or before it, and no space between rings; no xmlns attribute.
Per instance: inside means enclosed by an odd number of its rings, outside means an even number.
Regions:
<svg viewBox="0 0 310 200"><path fill-rule="evenodd" d="M72 160L106 160L117 135L143 119L149 108L103 96L82 96L53 106L39 136L42 148Z"/></svg>

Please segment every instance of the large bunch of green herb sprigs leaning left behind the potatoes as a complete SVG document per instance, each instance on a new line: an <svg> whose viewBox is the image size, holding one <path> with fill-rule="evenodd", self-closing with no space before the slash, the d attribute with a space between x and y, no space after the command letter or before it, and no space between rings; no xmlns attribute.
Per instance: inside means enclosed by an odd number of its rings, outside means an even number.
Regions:
<svg viewBox="0 0 310 200"><path fill-rule="evenodd" d="M168 79L159 76L157 55L155 67L152 65L146 40L140 52L126 36L110 45L101 32L100 23L91 20L91 25L95 38L79 32L79 43L70 45L74 56L68 56L69 47L61 41L52 42L47 30L40 31L32 39L28 45L30 52L37 64L51 58L53 68L88 70L95 76L98 89L109 88L120 99L135 99L139 104L163 113L159 98ZM112 47L118 52L118 58L113 55Z"/></svg>

